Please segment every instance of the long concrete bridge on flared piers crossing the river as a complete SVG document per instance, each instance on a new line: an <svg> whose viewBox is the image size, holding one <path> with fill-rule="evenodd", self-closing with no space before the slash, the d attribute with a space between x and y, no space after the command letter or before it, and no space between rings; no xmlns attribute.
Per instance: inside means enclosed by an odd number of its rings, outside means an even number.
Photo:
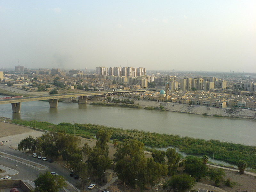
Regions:
<svg viewBox="0 0 256 192"><path fill-rule="evenodd" d="M1 99L0 104L12 104L12 112L20 113L21 102L27 101L40 101L40 100L49 100L51 108L57 108L59 99L62 98L71 98L78 97L79 103L87 103L88 96L96 95L106 95L108 94L117 94L117 93L127 93L127 92L144 92L144 91L155 91L156 89L138 89L138 90L117 90L117 91L94 91L94 92L79 92L79 93L66 93L66 94L54 94L54 95L42 95L42 96L33 96L33 97L21 97L21 98L12 98L12 99Z"/></svg>

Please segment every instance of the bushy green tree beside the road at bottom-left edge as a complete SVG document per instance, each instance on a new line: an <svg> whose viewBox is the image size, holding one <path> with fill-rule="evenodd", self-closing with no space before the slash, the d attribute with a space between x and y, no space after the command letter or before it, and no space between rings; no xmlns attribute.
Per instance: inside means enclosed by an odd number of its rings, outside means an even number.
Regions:
<svg viewBox="0 0 256 192"><path fill-rule="evenodd" d="M58 192L66 186L65 180L60 175L52 175L50 172L40 173L35 183L35 192Z"/></svg>

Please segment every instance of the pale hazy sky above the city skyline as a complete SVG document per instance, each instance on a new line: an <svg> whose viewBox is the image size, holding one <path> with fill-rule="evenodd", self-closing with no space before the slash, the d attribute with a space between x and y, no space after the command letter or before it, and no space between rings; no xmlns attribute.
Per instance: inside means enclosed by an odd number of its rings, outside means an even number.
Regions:
<svg viewBox="0 0 256 192"><path fill-rule="evenodd" d="M0 67L256 72L256 1L0 1Z"/></svg>

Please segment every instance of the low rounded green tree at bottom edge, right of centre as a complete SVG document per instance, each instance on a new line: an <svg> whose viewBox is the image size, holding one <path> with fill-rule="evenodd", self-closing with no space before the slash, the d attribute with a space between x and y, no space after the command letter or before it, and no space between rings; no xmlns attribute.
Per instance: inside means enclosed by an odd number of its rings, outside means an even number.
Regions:
<svg viewBox="0 0 256 192"><path fill-rule="evenodd" d="M170 180L166 180L163 189L167 192L185 192L195 184L195 178L188 174L173 175Z"/></svg>

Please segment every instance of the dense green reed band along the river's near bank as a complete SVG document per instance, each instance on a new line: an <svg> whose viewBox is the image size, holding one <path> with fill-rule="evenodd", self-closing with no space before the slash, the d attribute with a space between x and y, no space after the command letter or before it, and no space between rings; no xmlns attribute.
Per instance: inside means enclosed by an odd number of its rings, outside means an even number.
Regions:
<svg viewBox="0 0 256 192"><path fill-rule="evenodd" d="M35 121L12 120L12 123L35 126ZM236 165L239 160L244 160L249 167L256 168L256 146L221 142L219 140L180 137L179 135L167 135L155 132L123 130L95 124L60 123L55 125L47 122L36 122L36 128L70 134L74 134L75 131L76 135L85 138L93 138L98 130L105 128L112 132L111 139L137 139L143 142L145 146L153 148L172 146L190 155L207 155L212 157L214 152L214 159Z"/></svg>

